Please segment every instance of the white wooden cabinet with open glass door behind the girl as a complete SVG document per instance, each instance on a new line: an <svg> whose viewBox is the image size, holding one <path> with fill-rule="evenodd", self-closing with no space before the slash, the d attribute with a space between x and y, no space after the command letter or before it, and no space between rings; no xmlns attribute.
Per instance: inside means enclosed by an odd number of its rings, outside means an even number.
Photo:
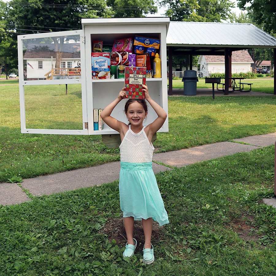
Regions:
<svg viewBox="0 0 276 276"><path fill-rule="evenodd" d="M113 45L116 39L134 38L135 35L160 39L161 44L157 52L161 59L162 78L147 79L147 85L151 97L168 112L166 53L168 27L169 18L163 17L93 18L82 19L82 30L18 36L21 132L79 135L117 133L107 125L102 131L94 131L93 128L93 109L105 108L124 87L124 79L92 80L93 40ZM41 74L46 74L47 72L42 72L41 68L44 63L48 66L47 70L49 63L55 68L54 40L59 47L62 46L60 41L65 41L61 66L65 77L51 77L52 79L46 80L42 79L41 75L41 79L28 78L35 75L34 72L37 76L39 70ZM77 66L74 65L79 63L81 74L78 75L76 72L78 69L74 68ZM69 69L69 66L72 69ZM48 77L50 75L51 73ZM69 92L65 95L67 86ZM81 105L80 100L78 102L74 97L81 98ZM121 101L111 115L127 123L123 112L125 102L126 100ZM148 117L144 125L148 125L157 117L151 106L148 107ZM159 132L167 131L168 119Z"/></svg>

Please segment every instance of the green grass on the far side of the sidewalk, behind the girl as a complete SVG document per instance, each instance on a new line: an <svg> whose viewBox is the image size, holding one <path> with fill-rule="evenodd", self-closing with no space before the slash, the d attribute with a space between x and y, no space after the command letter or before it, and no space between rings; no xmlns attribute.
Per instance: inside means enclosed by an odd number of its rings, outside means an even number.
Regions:
<svg viewBox="0 0 276 276"><path fill-rule="evenodd" d="M263 81L263 85L268 81ZM53 122L56 122L55 126L60 123L61 127L78 124L80 117L75 119L73 111L80 110L79 89L68 86L68 91L65 95L64 87L61 87L60 91L52 89L52 94L38 95L28 90L27 115L32 121L27 124L38 128ZM42 105L32 103L39 96L44 103L45 99L52 101L53 109L62 110L60 117L55 117L55 112L46 108L43 108L43 118L37 116L40 113L35 108L41 109ZM215 100L211 97L169 97L169 132L157 133L154 146L157 151L164 152L276 132L275 99L275 96L216 97ZM19 87L0 85L0 182L6 182L14 175L31 178L120 159L119 150L107 148L100 135L20 132Z"/></svg>

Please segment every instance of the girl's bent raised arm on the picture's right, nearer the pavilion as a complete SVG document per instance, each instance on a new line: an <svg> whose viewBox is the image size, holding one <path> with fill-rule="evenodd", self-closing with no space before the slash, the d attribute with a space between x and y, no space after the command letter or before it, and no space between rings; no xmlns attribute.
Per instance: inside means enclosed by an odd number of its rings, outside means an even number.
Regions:
<svg viewBox="0 0 276 276"><path fill-rule="evenodd" d="M151 124L149 124L147 126L147 128L149 128L149 134L152 136L155 132L157 132L162 127L162 125L166 121L167 113L166 113L166 111L158 103L156 103L150 97L150 95L148 93L148 86L147 85L143 85L143 88L144 88L144 91L145 91L146 100L152 106L152 108L154 109L154 111L156 112L156 114L158 116L155 119L154 122L152 122Z"/></svg>

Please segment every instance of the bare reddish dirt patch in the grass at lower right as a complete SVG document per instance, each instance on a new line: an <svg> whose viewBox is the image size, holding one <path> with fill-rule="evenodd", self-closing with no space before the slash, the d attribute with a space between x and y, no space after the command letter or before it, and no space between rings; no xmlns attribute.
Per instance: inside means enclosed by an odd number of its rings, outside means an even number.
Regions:
<svg viewBox="0 0 276 276"><path fill-rule="evenodd" d="M234 232L239 233L243 240L258 241L259 236L257 236L256 232L259 230L259 228L253 226L254 222L255 221L253 216L244 215L233 221L231 228Z"/></svg>

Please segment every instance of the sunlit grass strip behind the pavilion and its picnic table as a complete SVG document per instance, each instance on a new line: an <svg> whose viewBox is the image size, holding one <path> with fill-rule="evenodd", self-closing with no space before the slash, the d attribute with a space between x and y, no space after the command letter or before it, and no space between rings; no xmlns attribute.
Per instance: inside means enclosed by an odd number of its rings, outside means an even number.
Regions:
<svg viewBox="0 0 276 276"><path fill-rule="evenodd" d="M274 94L274 79L250 79L246 82L253 83L252 91ZM173 88L183 89L182 80L174 80ZM205 79L199 79L197 82L197 88L212 88L212 83L205 84Z"/></svg>

